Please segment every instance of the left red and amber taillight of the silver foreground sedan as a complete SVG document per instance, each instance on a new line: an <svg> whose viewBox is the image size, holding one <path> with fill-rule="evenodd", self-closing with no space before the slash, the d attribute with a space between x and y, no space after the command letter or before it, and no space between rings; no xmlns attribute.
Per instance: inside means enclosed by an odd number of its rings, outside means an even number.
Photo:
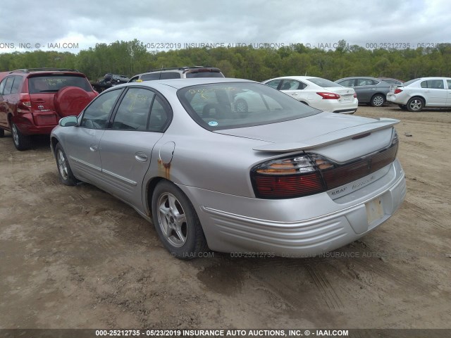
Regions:
<svg viewBox="0 0 451 338"><path fill-rule="evenodd" d="M257 197L290 199L326 191L318 168L309 156L280 158L252 168Z"/></svg>

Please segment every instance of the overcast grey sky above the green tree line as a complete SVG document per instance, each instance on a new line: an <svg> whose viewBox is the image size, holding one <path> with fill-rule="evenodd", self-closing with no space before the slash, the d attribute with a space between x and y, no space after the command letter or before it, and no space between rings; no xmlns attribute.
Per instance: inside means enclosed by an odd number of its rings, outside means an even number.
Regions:
<svg viewBox="0 0 451 338"><path fill-rule="evenodd" d="M451 42L450 0L2 0L0 7L0 53L78 53L132 39L149 50L264 43L333 49L341 39L395 48Z"/></svg>

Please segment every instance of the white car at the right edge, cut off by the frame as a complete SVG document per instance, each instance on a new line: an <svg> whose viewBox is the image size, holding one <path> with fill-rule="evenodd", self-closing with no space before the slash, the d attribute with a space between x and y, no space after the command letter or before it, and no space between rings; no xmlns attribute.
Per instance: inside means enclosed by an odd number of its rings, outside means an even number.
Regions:
<svg viewBox="0 0 451 338"><path fill-rule="evenodd" d="M451 107L450 77L421 77L391 87L387 101L407 111L421 111L425 107Z"/></svg>

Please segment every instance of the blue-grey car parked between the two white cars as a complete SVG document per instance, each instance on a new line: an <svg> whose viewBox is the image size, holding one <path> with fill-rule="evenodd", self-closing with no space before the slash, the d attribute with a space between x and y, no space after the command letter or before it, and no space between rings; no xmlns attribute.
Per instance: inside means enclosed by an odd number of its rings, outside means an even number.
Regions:
<svg viewBox="0 0 451 338"><path fill-rule="evenodd" d="M354 88L359 103L370 104L373 107L383 106L390 92L390 84L376 77L344 77L335 82L344 87Z"/></svg>

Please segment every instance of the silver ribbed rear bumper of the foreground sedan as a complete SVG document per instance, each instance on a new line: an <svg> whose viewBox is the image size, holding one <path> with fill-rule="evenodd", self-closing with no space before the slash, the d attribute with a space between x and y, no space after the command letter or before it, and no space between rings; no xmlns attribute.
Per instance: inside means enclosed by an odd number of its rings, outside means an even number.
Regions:
<svg viewBox="0 0 451 338"><path fill-rule="evenodd" d="M331 199L325 192L263 200L180 188L197 209L210 249L291 257L315 256L354 242L388 220L406 194L397 161L381 179L353 192L352 198ZM383 213L369 222L371 201L381 201Z"/></svg>

